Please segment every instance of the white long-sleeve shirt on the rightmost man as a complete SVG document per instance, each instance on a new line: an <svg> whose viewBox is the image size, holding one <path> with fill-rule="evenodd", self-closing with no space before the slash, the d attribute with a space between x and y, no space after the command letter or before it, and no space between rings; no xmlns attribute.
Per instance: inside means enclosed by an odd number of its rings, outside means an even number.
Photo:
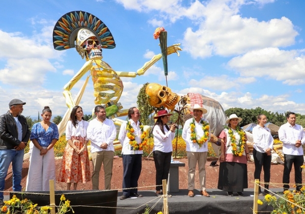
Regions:
<svg viewBox="0 0 305 214"><path fill-rule="evenodd" d="M301 140L305 144L305 131L302 126L290 123L281 125L279 129L279 139L283 142L283 153L290 155L303 155L303 147L296 147L295 142Z"/></svg>

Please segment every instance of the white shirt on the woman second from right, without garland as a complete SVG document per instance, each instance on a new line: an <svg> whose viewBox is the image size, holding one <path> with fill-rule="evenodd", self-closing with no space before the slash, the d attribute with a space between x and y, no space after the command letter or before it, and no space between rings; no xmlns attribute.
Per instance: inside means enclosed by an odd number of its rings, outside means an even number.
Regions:
<svg viewBox="0 0 305 214"><path fill-rule="evenodd" d="M256 151L265 153L268 148L273 148L273 138L269 128L257 125L253 128L252 135L254 142L253 147Z"/></svg>

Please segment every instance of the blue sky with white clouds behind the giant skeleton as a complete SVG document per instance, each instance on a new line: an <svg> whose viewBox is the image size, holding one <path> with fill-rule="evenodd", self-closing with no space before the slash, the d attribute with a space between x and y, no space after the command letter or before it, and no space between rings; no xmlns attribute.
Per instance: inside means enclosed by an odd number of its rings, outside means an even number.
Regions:
<svg viewBox="0 0 305 214"><path fill-rule="evenodd" d="M282 0L31 0L5 1L0 8L0 112L13 98L26 102L23 115L37 117L45 105L53 116L67 110L63 87L82 67L75 48L52 44L55 22L81 10L111 31L114 49L103 61L115 71L137 71L160 53L158 26L168 45L181 43L180 57L168 56L168 86L180 95L197 92L223 108L261 108L305 114L305 1ZM71 90L75 96L83 77ZM162 60L143 76L122 78L125 109L136 105L142 84L166 85ZM94 108L90 79L80 103Z"/></svg>

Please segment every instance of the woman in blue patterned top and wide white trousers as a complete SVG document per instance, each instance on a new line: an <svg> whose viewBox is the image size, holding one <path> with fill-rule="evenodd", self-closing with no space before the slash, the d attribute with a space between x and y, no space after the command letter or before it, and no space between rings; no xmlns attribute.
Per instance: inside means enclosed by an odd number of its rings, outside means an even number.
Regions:
<svg viewBox="0 0 305 214"><path fill-rule="evenodd" d="M35 123L31 132L34 144L29 163L25 191L49 191L49 180L55 180L55 155L53 146L58 140L57 125L52 123L49 106L42 110L42 121Z"/></svg>

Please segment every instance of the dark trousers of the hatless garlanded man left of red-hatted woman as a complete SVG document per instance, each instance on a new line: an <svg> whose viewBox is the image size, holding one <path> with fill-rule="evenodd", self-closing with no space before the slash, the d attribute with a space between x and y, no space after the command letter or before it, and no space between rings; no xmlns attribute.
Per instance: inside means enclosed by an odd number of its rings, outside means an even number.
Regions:
<svg viewBox="0 0 305 214"><path fill-rule="evenodd" d="M138 193L138 179L142 169L142 154L123 154L123 195ZM114 175L115 176L115 175ZM134 189L125 189L134 188Z"/></svg>

